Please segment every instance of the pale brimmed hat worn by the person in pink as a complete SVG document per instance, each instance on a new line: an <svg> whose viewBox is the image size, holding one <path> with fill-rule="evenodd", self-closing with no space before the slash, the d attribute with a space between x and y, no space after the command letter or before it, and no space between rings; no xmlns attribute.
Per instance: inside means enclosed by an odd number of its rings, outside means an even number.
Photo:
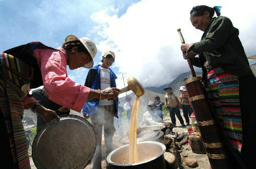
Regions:
<svg viewBox="0 0 256 169"><path fill-rule="evenodd" d="M82 43L82 45L89 51L89 53L92 57L92 60L90 62L88 62L87 64L85 64L83 67L84 68L92 68L93 67L93 58L95 57L95 55L97 53L97 48L96 48L96 45L94 44L94 42L87 37L78 39L75 35L69 35L66 37L65 42L70 42L70 41L80 41Z"/></svg>

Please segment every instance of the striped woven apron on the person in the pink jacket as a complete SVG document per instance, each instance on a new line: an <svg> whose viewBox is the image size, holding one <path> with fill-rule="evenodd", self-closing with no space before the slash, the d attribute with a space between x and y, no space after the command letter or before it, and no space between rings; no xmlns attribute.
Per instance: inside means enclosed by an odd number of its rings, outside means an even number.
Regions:
<svg viewBox="0 0 256 169"><path fill-rule="evenodd" d="M30 168L26 135L23 128L24 105L33 68L7 53L0 53L0 107L6 122L13 166Z"/></svg>

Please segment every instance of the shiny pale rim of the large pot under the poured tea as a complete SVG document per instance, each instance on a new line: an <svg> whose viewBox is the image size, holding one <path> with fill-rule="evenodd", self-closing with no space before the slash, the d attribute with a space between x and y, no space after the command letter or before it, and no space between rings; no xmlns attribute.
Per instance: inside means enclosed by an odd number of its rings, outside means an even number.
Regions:
<svg viewBox="0 0 256 169"><path fill-rule="evenodd" d="M143 164L143 163L146 163L146 162L153 161L153 160L157 159L158 157L160 157L161 155L163 155L163 153L164 153L165 150L166 150L166 147L164 146L164 144L159 143L159 142L145 141L145 142L138 142L137 144L144 144L144 143L152 143L152 144L158 145L158 146L160 146L160 147L162 148L162 152L161 152L160 154L158 154L158 155L157 155L156 157L154 157L154 158L151 158L151 159L146 160L146 161L138 162L138 163L133 163L133 164L118 164L118 163L113 162L113 161L111 160L111 156L112 156L115 152L117 152L118 150L123 149L124 147L129 146L129 144L127 144L127 145L124 145L124 146L122 146L122 147L119 147L119 148L113 150L113 151L106 157L106 161L108 161L110 164L116 165L116 166L133 166L133 165L139 165L139 164Z"/></svg>

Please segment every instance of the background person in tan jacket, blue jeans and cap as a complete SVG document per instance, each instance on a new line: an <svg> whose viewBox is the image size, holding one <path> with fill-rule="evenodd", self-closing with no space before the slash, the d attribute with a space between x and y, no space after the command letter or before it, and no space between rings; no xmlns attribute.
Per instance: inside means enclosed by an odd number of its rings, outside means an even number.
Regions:
<svg viewBox="0 0 256 169"><path fill-rule="evenodd" d="M178 117L180 124L182 127L185 127L184 121L180 115L180 101L178 100L177 96L172 92L171 87L166 87L163 89L166 94L164 96L164 105L165 108L170 112L170 120L172 121L174 127L176 127L176 118L175 114Z"/></svg>

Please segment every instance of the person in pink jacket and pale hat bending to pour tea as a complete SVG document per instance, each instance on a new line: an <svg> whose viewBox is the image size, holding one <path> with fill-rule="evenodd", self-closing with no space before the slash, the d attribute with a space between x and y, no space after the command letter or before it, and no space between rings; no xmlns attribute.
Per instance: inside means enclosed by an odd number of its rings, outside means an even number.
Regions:
<svg viewBox="0 0 256 169"><path fill-rule="evenodd" d="M55 111L29 98L29 88L44 85L48 98L67 108L81 111L87 98L112 99L119 89L92 90L72 81L67 74L79 67L91 68L97 53L89 38L69 35L57 48L32 42L0 55L0 159L2 168L30 168L22 118L24 106L34 109L46 122L58 118ZM63 129L65 130L65 129ZM51 146L51 145L49 145Z"/></svg>

